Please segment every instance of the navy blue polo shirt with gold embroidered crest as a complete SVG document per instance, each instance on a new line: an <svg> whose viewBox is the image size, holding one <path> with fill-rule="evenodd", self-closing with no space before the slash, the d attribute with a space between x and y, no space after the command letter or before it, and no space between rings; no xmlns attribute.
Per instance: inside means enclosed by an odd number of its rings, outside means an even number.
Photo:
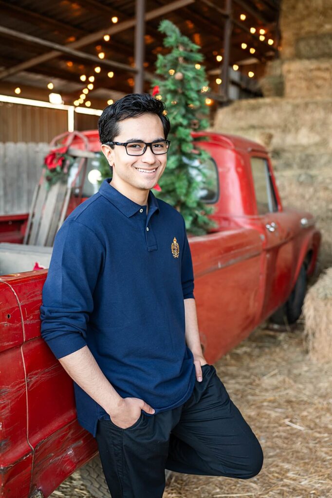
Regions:
<svg viewBox="0 0 332 498"><path fill-rule="evenodd" d="M148 206L104 180L55 237L40 312L56 358L87 345L120 396L157 414L184 403L195 383L183 302L194 282L182 215L151 190ZM74 388L78 421L95 436L109 416Z"/></svg>

